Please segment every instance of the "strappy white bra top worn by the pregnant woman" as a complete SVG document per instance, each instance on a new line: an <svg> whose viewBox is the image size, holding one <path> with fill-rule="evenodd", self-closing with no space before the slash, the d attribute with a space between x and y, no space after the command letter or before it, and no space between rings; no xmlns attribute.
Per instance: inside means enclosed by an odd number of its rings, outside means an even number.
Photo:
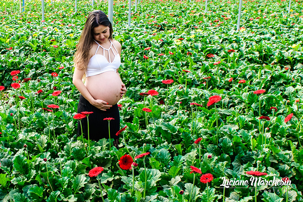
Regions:
<svg viewBox="0 0 303 202"><path fill-rule="evenodd" d="M94 40L95 41L95 40ZM109 40L110 41L110 40ZM117 49L115 48L114 44L111 42L111 45L108 49L103 48L97 41L95 41L98 44L98 48L96 50L95 55L93 55L88 62L87 68L85 70L85 76L89 77L89 76L95 76L98 74L102 74L106 71L117 71L117 69L120 67L121 65L121 58L120 55L118 54ZM101 46L101 48L103 48L103 55L101 54L97 54L99 47ZM115 52L113 50L113 47L115 48L117 54L115 55ZM112 52L114 54L114 60L111 60L111 55L109 53L109 51L112 49ZM104 54L105 54L105 50L108 51L108 58L109 61L107 61L107 59L105 58Z"/></svg>

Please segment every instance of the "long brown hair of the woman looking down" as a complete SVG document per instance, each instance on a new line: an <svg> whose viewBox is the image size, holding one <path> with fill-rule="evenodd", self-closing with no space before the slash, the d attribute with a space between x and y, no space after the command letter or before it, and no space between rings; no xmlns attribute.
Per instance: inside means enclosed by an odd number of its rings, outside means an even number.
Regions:
<svg viewBox="0 0 303 202"><path fill-rule="evenodd" d="M79 70L87 67L89 61L89 50L92 48L94 39L94 28L99 25L109 27L109 39L112 39L112 23L101 10L94 10L88 14L79 43L74 55L74 66Z"/></svg>

